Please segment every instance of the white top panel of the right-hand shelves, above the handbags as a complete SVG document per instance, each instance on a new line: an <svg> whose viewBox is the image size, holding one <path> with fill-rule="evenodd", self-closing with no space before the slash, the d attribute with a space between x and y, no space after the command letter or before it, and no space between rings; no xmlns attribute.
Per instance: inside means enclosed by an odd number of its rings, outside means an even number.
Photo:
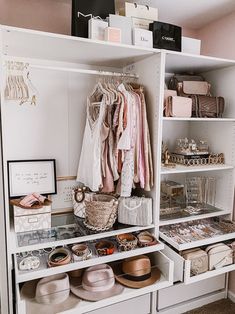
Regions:
<svg viewBox="0 0 235 314"><path fill-rule="evenodd" d="M167 51L166 72L167 73L196 73L207 72L229 66L235 66L235 60L194 55L177 51Z"/></svg>

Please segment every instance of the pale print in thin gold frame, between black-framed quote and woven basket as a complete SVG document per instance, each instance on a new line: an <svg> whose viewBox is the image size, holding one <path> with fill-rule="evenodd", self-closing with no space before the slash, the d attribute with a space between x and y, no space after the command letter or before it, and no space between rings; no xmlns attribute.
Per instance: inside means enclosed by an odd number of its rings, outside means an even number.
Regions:
<svg viewBox="0 0 235 314"><path fill-rule="evenodd" d="M52 195L52 214L73 212L72 190L77 187L76 176L58 177L57 194Z"/></svg>

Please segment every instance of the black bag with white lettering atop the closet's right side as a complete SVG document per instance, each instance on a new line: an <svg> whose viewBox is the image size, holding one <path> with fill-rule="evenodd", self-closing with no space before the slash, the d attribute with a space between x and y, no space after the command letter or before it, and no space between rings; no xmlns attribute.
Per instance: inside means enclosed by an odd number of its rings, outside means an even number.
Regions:
<svg viewBox="0 0 235 314"><path fill-rule="evenodd" d="M181 51L182 29L179 26L153 22L149 25L153 32L153 47Z"/></svg>

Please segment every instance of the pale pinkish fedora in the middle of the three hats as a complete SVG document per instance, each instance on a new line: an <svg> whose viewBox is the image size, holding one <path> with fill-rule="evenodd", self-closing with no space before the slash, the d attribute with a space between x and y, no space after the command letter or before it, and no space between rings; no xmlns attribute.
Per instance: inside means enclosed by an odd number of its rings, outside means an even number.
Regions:
<svg viewBox="0 0 235 314"><path fill-rule="evenodd" d="M124 287L115 283L112 268L107 264L89 267L82 281L71 280L71 291L81 299L99 301L122 293Z"/></svg>

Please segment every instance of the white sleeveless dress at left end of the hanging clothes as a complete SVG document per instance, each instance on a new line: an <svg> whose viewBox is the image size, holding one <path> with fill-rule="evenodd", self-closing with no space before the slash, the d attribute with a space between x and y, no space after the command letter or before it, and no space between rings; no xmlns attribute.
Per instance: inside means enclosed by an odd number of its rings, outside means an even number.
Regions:
<svg viewBox="0 0 235 314"><path fill-rule="evenodd" d="M101 169L101 128L103 126L106 109L105 96L102 98L99 113L95 120L91 116L91 106L92 104L88 98L86 126L78 165L77 181L82 182L95 192L103 186Z"/></svg>

